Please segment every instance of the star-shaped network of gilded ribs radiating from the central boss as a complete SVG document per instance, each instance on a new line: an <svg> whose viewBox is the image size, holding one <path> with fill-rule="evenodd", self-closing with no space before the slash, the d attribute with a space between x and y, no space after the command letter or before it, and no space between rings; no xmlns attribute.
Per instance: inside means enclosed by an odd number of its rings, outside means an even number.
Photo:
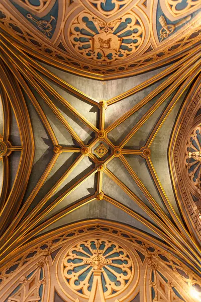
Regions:
<svg viewBox="0 0 201 302"><path fill-rule="evenodd" d="M2 50L4 50L4 46L8 47L6 43L2 42ZM5 50L4 50L5 51ZM106 107L104 104L98 104L94 100L90 99L85 94L82 94L80 91L76 90L63 80L56 77L53 73L46 70L44 67L39 68L40 64L34 63L27 55L23 54L22 51L19 51L19 48L14 48L12 46L12 50L9 50L9 47L7 48L8 53L4 52L2 54L2 58L4 61L8 64L8 67L12 69L12 72L14 74L14 77L18 82L20 83L20 86L22 86L22 89L25 90L25 92L28 94L29 98L31 99L35 109L38 112L38 115L40 116L41 120L43 121L43 124L45 128L48 130L48 133L52 139L53 147L58 147L59 152L56 153L53 158L51 159L50 163L48 164L48 167L46 168L45 172L41 176L39 182L35 186L34 190L30 194L29 198L25 201L25 204L23 205L22 209L19 211L19 213L14 217L13 222L9 226L7 232L1 239L2 246L0 249L2 249L2 255L6 257L6 259L9 259L11 257L12 253L15 251L17 252L19 247L23 245L27 240L33 238L35 235L39 234L41 231L43 231L47 226L51 225L55 221L57 221L59 218L64 217L65 215L69 214L73 210L76 210L80 206L83 206L84 204L93 201L94 199L98 199L100 196L98 194L102 193L102 182L103 182L103 174L106 173L109 177L111 177L124 191L125 193L130 196L137 204L148 213L148 215L154 220L157 226L155 226L153 223L147 221L145 218L143 218L141 215L135 213L134 210L129 209L128 207L122 205L120 202L115 201L113 198L103 195L104 199L113 205L121 208L125 212L129 213L129 215L135 217L142 223L148 226L151 230L153 230L156 234L158 234L161 238L163 238L168 244L171 244L171 246L174 249L180 249L179 255L183 257L189 264L191 264L195 269L198 261L198 247L196 246L196 243L193 241L193 239L190 237L190 235L187 233L187 230L185 230L182 221L177 217L175 214L173 207L169 204L169 200L161 186L161 183L157 177L157 174L154 170L153 164L151 163L150 157L147 156L146 162L148 164L149 170L151 172L152 178L154 179L154 182L156 184L156 187L160 193L160 196L162 197L164 203L166 204L166 207L168 208L168 211L174 219L174 221L177 222L177 225L179 226L179 230L177 230L172 223L172 221L167 217L167 215L162 211L162 209L159 207L159 205L156 203L154 198L151 196L151 194L148 192L148 190L145 188L145 186L141 183L140 179L137 177L135 172L132 170L126 159L124 158L123 154L138 154L143 156L143 150L146 147L149 147L151 145L151 142L153 141L153 138L155 137L156 133L160 129L162 123L164 122L165 116L167 116L170 111L172 110L173 106L178 100L178 97L181 95L181 93L190 85L191 81L196 77L197 73L199 72L199 68L197 68L197 65L199 64L199 56L200 54L197 53L199 51L199 47L195 47L193 52L191 54L188 54L186 57L181 59L179 62L174 63L172 66L168 67L164 72L161 72L157 76L151 78L150 80L138 85L136 88L131 89L111 100L108 101L108 106L111 104L114 104L120 100L123 100L124 98L135 94L137 91L140 91L144 89L145 87L148 87L149 85L155 83L160 79L160 77L165 77L170 72L175 71L170 77L167 79L167 81L164 81L163 84L161 84L157 89L155 89L152 93L150 93L147 97L145 97L141 102L138 103L138 105L134 106L129 112L124 114L120 119L118 119L115 123L110 125L107 129L105 129L105 110ZM7 57L6 57L7 56ZM32 67L31 67L32 66ZM73 108L64 98L62 98L57 92L55 92L54 89L51 88L49 84L47 84L37 73L35 69L42 72L44 75L46 75L48 78L53 80L55 83L59 84L60 86L64 87L66 90L70 91L73 95L82 98L86 100L87 102L92 103L93 105L96 105L99 107L99 129L97 129L95 126L93 126L90 122L87 121L86 118L84 118L77 110ZM185 71L185 72L184 72ZM75 138L75 140L79 143L80 148L73 148L73 147L60 147L58 145L57 138L42 110L40 105L38 104L36 98L33 96L33 93L31 92L31 89L29 89L28 85L24 81L23 77L29 81L29 83L34 87L34 89L39 93L39 95L45 100L45 102L48 104L48 106L51 108L51 110L54 112L56 117L63 123L63 125L66 127L66 129L69 131L69 133L72 135L72 137ZM181 74L181 75L180 75ZM189 74L191 78L189 77ZM188 77L188 78L187 78ZM186 79L187 78L187 79ZM185 80L186 79L186 80ZM15 80L15 83L17 81ZM185 80L185 81L184 81ZM8 80L7 80L8 81ZM7 82L6 81L6 82ZM183 84L182 84L183 83ZM62 152L76 152L80 153L82 152L82 148L88 148L90 149L92 146L96 144L96 142L99 140L98 137L93 139L93 141L85 146L84 143L81 141L79 136L75 133L75 131L72 129L72 127L67 123L63 115L59 112L57 107L54 105L54 103L51 101L51 99L46 95L46 93L43 91L43 89L40 87L40 85L50 91L50 93L64 106L66 106L75 116L77 116L82 122L84 122L85 125L87 125L91 130L94 132L98 132L99 130L103 130L106 133L120 125L124 120L126 120L129 116L131 116L134 112L136 112L138 109L140 109L143 105L145 105L147 102L149 102L156 94L160 93L163 89L167 88L166 92L158 99L158 101L148 110L148 112L144 115L143 119L141 119L135 127L129 132L129 134L126 136L126 138L122 141L122 143L119 146L115 146L107 137L104 138L104 141L108 143L109 146L114 148L115 150L117 148L120 148L120 152L122 155L120 155L120 160L126 167L127 171L132 176L135 183L138 185L138 187L141 189L145 197L149 200L150 204L156 209L157 214L159 217L151 210L149 209L133 192L131 192L128 187L126 187L122 182L119 181L119 179L111 173L107 168L102 170L98 170L99 168L96 167L89 173L87 173L84 177L79 179L75 184L73 184L68 190L66 190L63 194L61 194L59 197L57 197L45 210L43 210L41 213L38 214L40 209L46 204L46 202L53 196L55 191L60 187L60 185L63 183L63 181L68 177L68 175L74 170L74 168L78 165L78 163L83 159L84 154L80 154L77 160L71 165L71 167L63 174L63 176L57 181L57 183L53 186L53 188L50 189L50 191L46 194L46 196L40 201L40 203L31 211L29 216L25 217L24 220L22 220L27 208L30 206L30 204L33 202L35 196L39 192L39 190L42 188L45 180L47 179L50 171L52 170L54 164L56 163L57 159L59 158L59 154ZM177 88L179 85L182 86L179 88L176 95L173 97L173 99L170 101L169 105L161 115L160 119L157 122L157 125L155 125L158 129L155 131L152 131L148 142L146 143L146 146L141 148L140 150L129 150L129 149L122 149L123 146L126 144L126 142L133 136L133 134L139 129L139 127L153 114L153 112L162 104L162 102L167 98L168 95L170 95L175 88ZM19 87L19 91L21 91ZM7 93L8 92L7 88ZM10 93L11 95L11 93ZM19 97L19 96L18 96ZM11 98L11 97L10 97ZM19 97L19 99L23 99L22 93ZM18 102L18 101L16 101ZM102 106L103 105L103 106ZM25 136L28 134L26 133ZM98 135L98 133L97 133ZM22 137L23 139L23 137ZM25 150L24 144L22 145L22 153ZM89 156L93 162L96 164L96 166L99 164L99 161L94 157L92 153L89 153L87 156ZM115 154L112 154L109 156L103 163L107 164L109 163L113 158L115 157ZM87 198L82 199L79 202L75 202L74 204L71 204L61 211L59 211L57 214L52 215L50 218L46 219L44 222L40 224L42 219L45 218L47 213L49 213L53 208L56 207L57 204L59 204L65 197L67 197L73 190L75 190L79 185L81 185L86 179L88 179L90 176L95 174L97 172L97 189L96 193L92 196L89 196ZM29 179L29 177L28 177ZM96 195L97 194L97 195ZM103 192L104 194L104 192ZM102 197L103 197L102 196ZM100 199L99 199L100 200ZM16 228L16 225L19 224L19 222L22 220L21 224ZM37 226L37 224L39 225ZM178 224L179 223L179 224ZM160 228L163 230L161 231ZM19 235L20 232L20 235ZM7 239L5 242L4 240ZM186 242L187 239L187 242ZM185 247L184 250L181 249L181 247ZM194 256L193 256L194 255ZM196 259L195 259L196 258ZM189 261L191 259L191 262Z"/></svg>

